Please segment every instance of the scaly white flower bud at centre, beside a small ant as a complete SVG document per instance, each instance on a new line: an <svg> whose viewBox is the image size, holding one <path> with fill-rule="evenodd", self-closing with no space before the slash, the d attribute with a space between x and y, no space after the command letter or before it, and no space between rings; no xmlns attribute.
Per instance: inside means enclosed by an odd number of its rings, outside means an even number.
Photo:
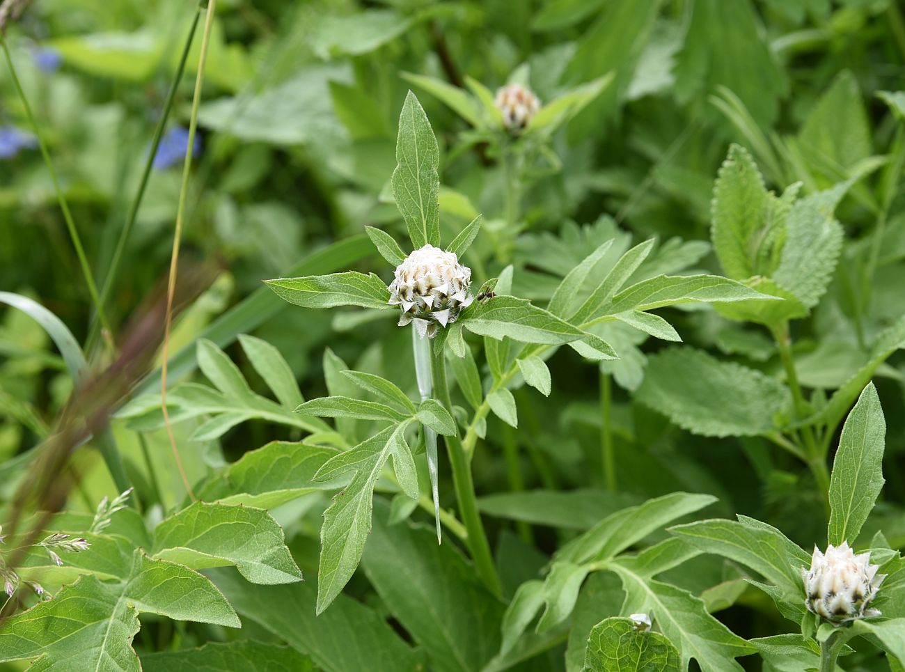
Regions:
<svg viewBox="0 0 905 672"><path fill-rule="evenodd" d="M411 322L421 336L433 339L439 327L458 320L472 303L471 283L472 269L454 252L424 245L396 266L389 302L402 310L399 326Z"/></svg>

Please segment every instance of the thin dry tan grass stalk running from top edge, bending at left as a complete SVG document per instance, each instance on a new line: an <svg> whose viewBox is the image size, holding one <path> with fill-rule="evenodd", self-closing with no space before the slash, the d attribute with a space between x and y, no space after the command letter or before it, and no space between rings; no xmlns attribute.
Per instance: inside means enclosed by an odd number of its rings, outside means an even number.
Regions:
<svg viewBox="0 0 905 672"><path fill-rule="evenodd" d="M179 188L179 206L176 210L176 231L173 235L173 254L170 256L169 281L167 283L167 320L164 327L163 364L160 369L160 408L163 410L164 424L167 426L167 437L176 467L182 478L186 492L195 501L195 493L188 482L186 469L182 465L182 458L176 449L176 438L173 436L173 427L170 425L169 410L167 409L167 364L169 362L169 335L173 326L173 296L176 293L176 267L179 262L179 243L182 239L183 218L186 212L186 197L188 195L188 177L192 170L192 149L195 145L195 130L198 127L198 107L201 105L201 88L205 81L205 62L207 60L207 44L210 42L211 30L214 26L214 12L217 0L209 0L205 14L205 33L201 38L201 53L198 55L198 73L195 77L195 94L192 97L192 113L188 122L188 145L186 147L186 160L182 169L182 185Z"/></svg>

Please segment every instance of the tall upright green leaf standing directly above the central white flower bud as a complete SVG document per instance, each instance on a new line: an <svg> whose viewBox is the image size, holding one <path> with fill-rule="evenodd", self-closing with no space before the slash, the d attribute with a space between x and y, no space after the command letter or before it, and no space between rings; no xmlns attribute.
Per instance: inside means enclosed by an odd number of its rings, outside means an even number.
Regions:
<svg viewBox="0 0 905 672"><path fill-rule="evenodd" d="M412 91L405 96L396 139L397 166L393 197L405 219L415 249L440 245L440 149L421 103Z"/></svg>

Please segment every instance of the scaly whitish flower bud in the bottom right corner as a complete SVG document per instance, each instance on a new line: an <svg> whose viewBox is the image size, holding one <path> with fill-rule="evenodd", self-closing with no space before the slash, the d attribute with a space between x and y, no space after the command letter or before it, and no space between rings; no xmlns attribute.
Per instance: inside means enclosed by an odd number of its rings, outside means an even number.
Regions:
<svg viewBox="0 0 905 672"><path fill-rule="evenodd" d="M811 568L801 571L807 609L836 623L878 616L867 606L886 575L878 575L880 567L870 559L870 552L855 555L848 542L827 546L825 553L814 547Z"/></svg>

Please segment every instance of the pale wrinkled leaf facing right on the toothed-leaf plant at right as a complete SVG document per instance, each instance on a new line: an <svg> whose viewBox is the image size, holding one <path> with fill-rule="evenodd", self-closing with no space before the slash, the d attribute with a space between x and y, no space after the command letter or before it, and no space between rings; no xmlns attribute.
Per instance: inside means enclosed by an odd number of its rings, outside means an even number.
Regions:
<svg viewBox="0 0 905 672"><path fill-rule="evenodd" d="M835 206L852 182L804 197L786 219L786 243L773 279L808 308L814 308L833 277L843 245Z"/></svg>

